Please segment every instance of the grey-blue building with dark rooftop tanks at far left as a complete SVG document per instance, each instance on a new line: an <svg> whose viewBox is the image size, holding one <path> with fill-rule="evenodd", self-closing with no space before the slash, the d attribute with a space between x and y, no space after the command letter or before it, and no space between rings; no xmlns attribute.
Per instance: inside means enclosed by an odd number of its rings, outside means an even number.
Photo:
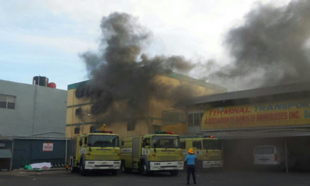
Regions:
<svg viewBox="0 0 310 186"><path fill-rule="evenodd" d="M35 77L33 83L0 80L0 135L13 140L13 168L66 161L67 91L48 84L46 77ZM11 147L11 142L0 142L0 149Z"/></svg>

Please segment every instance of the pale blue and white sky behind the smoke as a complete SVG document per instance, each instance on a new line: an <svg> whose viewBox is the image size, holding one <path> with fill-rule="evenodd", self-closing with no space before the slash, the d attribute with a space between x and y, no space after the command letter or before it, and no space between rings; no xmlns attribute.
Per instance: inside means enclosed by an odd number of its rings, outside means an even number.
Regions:
<svg viewBox="0 0 310 186"><path fill-rule="evenodd" d="M116 3L117 2L117 3ZM80 1L0 0L0 79L31 84L42 75L57 88L87 80L79 58L96 50L99 22L113 11L130 13L153 32L149 56L182 55L229 63L223 37L255 4L288 0Z"/></svg>

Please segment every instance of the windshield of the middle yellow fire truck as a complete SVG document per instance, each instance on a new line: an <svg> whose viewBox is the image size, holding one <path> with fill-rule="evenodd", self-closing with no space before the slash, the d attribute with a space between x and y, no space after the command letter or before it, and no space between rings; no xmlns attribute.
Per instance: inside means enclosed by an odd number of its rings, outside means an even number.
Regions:
<svg viewBox="0 0 310 186"><path fill-rule="evenodd" d="M151 139L152 147L155 148L180 148L180 139L178 136L154 136Z"/></svg>

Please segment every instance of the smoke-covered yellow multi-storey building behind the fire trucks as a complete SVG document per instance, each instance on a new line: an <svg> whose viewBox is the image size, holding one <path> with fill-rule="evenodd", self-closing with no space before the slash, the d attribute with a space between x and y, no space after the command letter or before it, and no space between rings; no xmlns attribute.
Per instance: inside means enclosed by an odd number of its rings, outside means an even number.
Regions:
<svg viewBox="0 0 310 186"><path fill-rule="evenodd" d="M166 86L190 86L197 96L227 91L224 87L173 72L156 74L154 78ZM142 97L144 100L139 107L142 110L135 113L135 111L130 111L130 106L128 106L131 98L116 97L113 98L113 103L106 112L97 113L97 110L94 110L94 108L97 108L96 100L92 100L90 97L76 97L76 92L79 91L78 87L87 86L89 83L92 82L85 81L68 85L66 123L68 137L92 132L99 129L104 123L107 125L106 130L113 130L120 137L151 133L156 130L173 130L177 133L187 132L187 115L182 109L173 109L173 105L176 103L175 100L163 99L159 101L156 97L150 96L148 99ZM175 92L175 94L175 97L178 97L178 92Z"/></svg>

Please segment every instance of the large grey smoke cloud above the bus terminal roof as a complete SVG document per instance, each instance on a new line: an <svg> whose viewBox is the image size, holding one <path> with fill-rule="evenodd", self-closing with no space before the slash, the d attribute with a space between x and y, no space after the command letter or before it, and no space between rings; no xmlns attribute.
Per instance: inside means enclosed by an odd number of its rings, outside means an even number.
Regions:
<svg viewBox="0 0 310 186"><path fill-rule="evenodd" d="M233 62L207 63L204 80L229 90L309 80L309 38L309 0L282 7L259 4L225 38Z"/></svg>

